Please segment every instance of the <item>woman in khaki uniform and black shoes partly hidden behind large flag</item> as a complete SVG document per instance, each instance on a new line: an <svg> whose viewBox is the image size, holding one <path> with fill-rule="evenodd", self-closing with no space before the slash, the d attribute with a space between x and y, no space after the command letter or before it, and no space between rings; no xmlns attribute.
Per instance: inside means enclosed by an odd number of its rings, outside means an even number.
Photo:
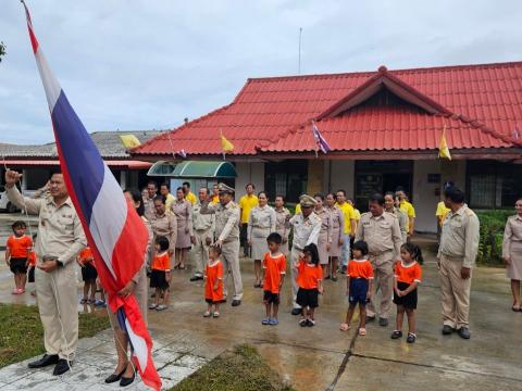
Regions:
<svg viewBox="0 0 522 391"><path fill-rule="evenodd" d="M124 191L125 198L134 203L136 207L136 212L141 219L144 220L147 230L149 231L149 243L144 256L144 265L136 273L136 275L130 279L130 281L120 291L117 292L121 297L128 297L134 294L136 301L138 302L139 312L141 313L141 317L144 318L145 325L147 325L147 273L146 273L146 265L147 265L147 257L150 255L150 247L152 245L152 228L150 226L149 220L145 217L145 206L144 206L144 199L141 193L138 189L128 189ZM123 381L122 386L128 386L134 381L134 368L133 365L129 365L129 355L128 353L128 339L125 333L120 328L120 323L117 321L115 315L112 311L108 311L109 317L111 320L112 328L114 329L114 343L116 345L116 353L117 353L117 365L114 369L114 373L110 375L107 379L107 383L112 383L116 381Z"/></svg>

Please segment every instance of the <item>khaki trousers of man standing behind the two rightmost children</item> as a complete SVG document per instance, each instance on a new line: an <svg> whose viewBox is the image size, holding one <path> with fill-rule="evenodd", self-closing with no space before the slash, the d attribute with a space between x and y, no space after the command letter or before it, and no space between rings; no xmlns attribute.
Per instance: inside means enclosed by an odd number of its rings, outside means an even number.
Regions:
<svg viewBox="0 0 522 391"><path fill-rule="evenodd" d="M378 317L387 319L391 301L394 298L394 252L386 251L378 255L370 254L370 262L373 266L373 294L372 301L366 306L368 316L376 316L376 293L381 290L381 304L378 305Z"/></svg>

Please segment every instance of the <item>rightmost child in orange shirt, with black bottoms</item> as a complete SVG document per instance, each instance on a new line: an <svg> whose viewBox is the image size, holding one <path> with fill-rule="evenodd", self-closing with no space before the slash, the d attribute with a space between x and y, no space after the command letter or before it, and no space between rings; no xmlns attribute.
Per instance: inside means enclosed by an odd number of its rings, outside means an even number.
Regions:
<svg viewBox="0 0 522 391"><path fill-rule="evenodd" d="M405 312L408 316L408 338L406 342L413 343L417 339L415 310L417 287L421 282L422 252L419 245L407 242L400 248L401 261L395 264L394 303L397 304L396 329L391 339L402 337L402 320Z"/></svg>

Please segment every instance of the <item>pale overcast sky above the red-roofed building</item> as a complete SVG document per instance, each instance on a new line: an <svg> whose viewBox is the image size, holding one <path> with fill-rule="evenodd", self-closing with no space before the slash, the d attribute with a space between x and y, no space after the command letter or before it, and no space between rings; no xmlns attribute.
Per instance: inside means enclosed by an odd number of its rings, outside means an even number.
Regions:
<svg viewBox="0 0 522 391"><path fill-rule="evenodd" d="M522 60L522 1L26 0L89 131L165 129L248 77ZM1 0L0 142L52 141L18 0Z"/></svg>

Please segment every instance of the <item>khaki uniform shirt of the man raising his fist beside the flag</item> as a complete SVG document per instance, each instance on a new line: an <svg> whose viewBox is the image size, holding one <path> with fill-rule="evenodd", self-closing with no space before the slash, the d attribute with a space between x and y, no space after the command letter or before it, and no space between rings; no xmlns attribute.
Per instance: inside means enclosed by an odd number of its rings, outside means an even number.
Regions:
<svg viewBox="0 0 522 391"><path fill-rule="evenodd" d="M13 204L26 209L29 214L39 215L36 238L38 260L45 255L58 256L58 261L65 265L74 261L76 254L87 245L82 223L70 198L57 206L52 197L23 197L15 186L7 188L7 192Z"/></svg>

